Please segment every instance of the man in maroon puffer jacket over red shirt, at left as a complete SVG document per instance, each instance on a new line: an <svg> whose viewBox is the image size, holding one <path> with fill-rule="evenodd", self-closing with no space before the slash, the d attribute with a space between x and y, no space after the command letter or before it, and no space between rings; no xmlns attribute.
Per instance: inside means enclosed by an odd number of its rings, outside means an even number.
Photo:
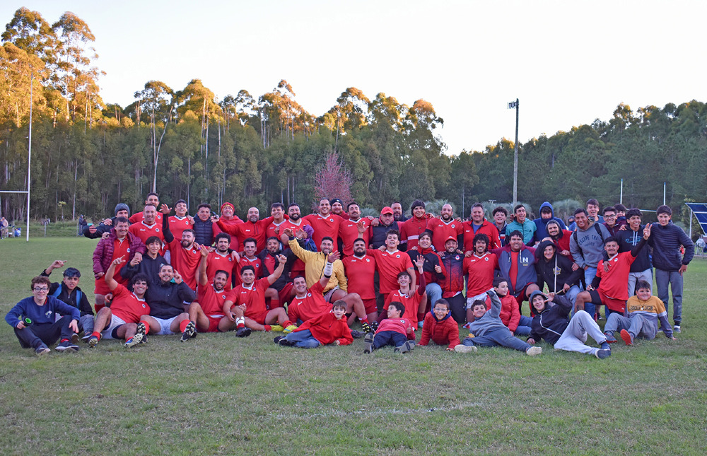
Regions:
<svg viewBox="0 0 707 456"><path fill-rule="evenodd" d="M130 222L127 218L115 218L115 224L111 228L106 238L98 241L93 251L93 276L95 277L95 310L98 312L105 305L105 295L110 293L103 276L105 275L111 262L117 258L123 258L125 262L118 263L115 272L119 273L124 264L130 262L134 257L142 259L146 252L146 247L136 235L129 232ZM117 279L124 285L127 280L117 274Z"/></svg>

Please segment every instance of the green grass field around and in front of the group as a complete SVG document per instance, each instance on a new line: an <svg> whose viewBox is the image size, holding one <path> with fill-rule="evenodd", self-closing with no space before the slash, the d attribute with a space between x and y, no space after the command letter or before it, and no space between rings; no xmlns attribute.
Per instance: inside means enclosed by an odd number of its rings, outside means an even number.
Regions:
<svg viewBox="0 0 707 456"><path fill-rule="evenodd" d="M84 272L92 298L95 243L0 241L2 314L54 259ZM364 355L361 340L299 350L264 333L37 358L3 322L0 452L704 455L706 272L695 259L686 273L677 341L619 342L603 361L547 344L534 358L442 346Z"/></svg>

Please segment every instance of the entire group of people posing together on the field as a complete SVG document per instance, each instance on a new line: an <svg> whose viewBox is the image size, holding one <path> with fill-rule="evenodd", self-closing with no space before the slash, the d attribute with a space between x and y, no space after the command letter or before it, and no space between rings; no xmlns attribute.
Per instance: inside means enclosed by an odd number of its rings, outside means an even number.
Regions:
<svg viewBox="0 0 707 456"><path fill-rule="evenodd" d="M189 216L186 201L171 208L156 193L142 209L118 204L113 217L83 230L100 239L93 308L78 269L49 280L63 260L32 279L33 296L6 316L21 346L42 354L57 341L57 351L78 350L79 334L93 348L102 339L132 347L151 334L188 341L235 330L279 332L276 343L303 348L363 337L365 353L386 345L405 353L417 341L534 356L544 339L606 358L617 333L631 345L681 331L682 274L694 255L669 206L658 207L658 223L643 224L641 211L621 204L599 215L595 199L574 212L570 229L548 202L535 219L522 204L513 214L499 206L493 221L481 204L462 221L449 204L433 216L420 200L409 218L397 201L364 217L339 199L322 199L305 216L298 204L271 204L267 218L252 207L244 220L228 202L219 214L199 204ZM522 315L525 301L530 316ZM464 339L460 326L469 330ZM588 336L597 346L585 344Z"/></svg>

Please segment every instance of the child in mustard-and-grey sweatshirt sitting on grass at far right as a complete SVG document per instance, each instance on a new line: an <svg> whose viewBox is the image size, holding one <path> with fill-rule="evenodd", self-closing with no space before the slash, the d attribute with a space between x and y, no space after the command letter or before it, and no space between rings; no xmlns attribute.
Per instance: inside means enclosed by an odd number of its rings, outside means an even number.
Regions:
<svg viewBox="0 0 707 456"><path fill-rule="evenodd" d="M672 328L667 320L667 311L662 300L650 293L650 283L640 280L636 284L636 296L631 296L626 302L626 310L629 317L626 318L619 313L612 313L604 326L604 336L607 342L612 344L617 341L614 332L621 331L621 339L626 345L633 345L633 339L641 337L643 339L655 339L658 334L658 320L662 325L665 337L675 340L672 335Z"/></svg>

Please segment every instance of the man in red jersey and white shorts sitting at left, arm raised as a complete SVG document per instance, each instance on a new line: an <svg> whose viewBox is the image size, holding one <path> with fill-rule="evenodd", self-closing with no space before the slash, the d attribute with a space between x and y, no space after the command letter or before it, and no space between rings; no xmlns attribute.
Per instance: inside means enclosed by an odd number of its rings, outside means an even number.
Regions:
<svg viewBox="0 0 707 456"><path fill-rule="evenodd" d="M102 338L125 339L127 348L142 341L143 334L137 333L137 323L140 321L140 315L150 312L150 306L145 302L149 279L145 274L135 274L130 279L132 292L117 283L113 279L115 267L124 261L122 257L116 258L105 272L105 284L113 293L113 299L110 305L99 310L95 316L93 333L88 339L88 346L92 349Z"/></svg>

